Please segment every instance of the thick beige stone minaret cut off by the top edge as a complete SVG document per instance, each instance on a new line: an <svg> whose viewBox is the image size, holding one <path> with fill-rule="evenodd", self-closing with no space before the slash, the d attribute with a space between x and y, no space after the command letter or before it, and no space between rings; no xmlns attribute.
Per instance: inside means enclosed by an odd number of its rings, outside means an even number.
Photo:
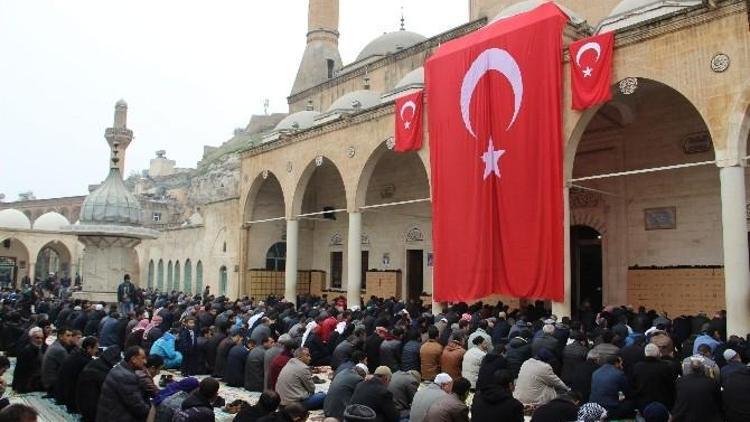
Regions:
<svg viewBox="0 0 750 422"><path fill-rule="evenodd" d="M309 1L307 47L302 55L291 95L325 82L341 68L339 1Z"/></svg>

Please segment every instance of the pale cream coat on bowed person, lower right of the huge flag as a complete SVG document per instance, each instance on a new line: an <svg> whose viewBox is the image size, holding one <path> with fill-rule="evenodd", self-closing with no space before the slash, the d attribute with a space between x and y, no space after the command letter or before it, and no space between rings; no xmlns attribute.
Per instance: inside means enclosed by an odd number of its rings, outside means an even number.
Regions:
<svg viewBox="0 0 750 422"><path fill-rule="evenodd" d="M521 365L513 397L523 404L541 406L569 390L548 363L531 358Z"/></svg>

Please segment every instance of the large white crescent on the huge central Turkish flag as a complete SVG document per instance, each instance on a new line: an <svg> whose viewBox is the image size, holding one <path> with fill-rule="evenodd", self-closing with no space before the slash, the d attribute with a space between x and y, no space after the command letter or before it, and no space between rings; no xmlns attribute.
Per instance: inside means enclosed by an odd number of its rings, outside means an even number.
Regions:
<svg viewBox="0 0 750 422"><path fill-rule="evenodd" d="M482 54L474 59L471 67L466 71L463 83L461 84L461 116L463 116L466 130L475 138L477 135L471 127L469 105L471 104L471 97L474 95L474 90L479 80L490 70L500 72L508 79L511 88L513 88L513 118L505 130L510 129L513 123L516 122L516 117L518 117L518 112L521 110L521 103L523 101L523 78L516 59L501 48L488 48L484 50Z"/></svg>

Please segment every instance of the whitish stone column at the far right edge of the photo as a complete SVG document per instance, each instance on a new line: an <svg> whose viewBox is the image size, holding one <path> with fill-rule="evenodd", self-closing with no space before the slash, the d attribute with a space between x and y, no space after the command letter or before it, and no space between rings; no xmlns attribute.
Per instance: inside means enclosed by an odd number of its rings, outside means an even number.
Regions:
<svg viewBox="0 0 750 422"><path fill-rule="evenodd" d="M745 169L722 167L721 227L724 247L724 292L727 335L750 332L750 264L747 249Z"/></svg>

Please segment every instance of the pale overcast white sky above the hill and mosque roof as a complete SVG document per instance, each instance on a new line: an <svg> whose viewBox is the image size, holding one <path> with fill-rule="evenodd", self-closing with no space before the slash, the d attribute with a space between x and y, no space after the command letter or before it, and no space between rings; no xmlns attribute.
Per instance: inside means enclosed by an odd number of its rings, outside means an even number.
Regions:
<svg viewBox="0 0 750 422"><path fill-rule="evenodd" d="M399 27L436 35L466 0L341 0L344 63ZM83 195L108 168L104 129L128 102L126 173L167 150L195 167L252 114L287 112L306 0L0 0L0 193Z"/></svg>

